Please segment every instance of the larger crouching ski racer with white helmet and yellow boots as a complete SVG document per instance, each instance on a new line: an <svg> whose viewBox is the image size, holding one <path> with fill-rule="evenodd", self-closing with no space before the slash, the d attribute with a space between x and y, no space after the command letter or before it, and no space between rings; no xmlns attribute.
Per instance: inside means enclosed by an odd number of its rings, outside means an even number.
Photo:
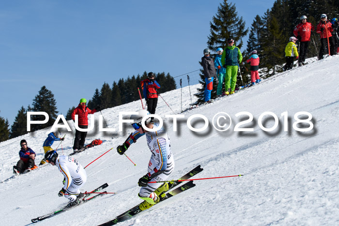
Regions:
<svg viewBox="0 0 339 226"><path fill-rule="evenodd" d="M165 198L165 192L169 189L169 184L149 183L150 181L166 181L174 169L174 158L170 150L170 137L163 127L159 127L158 122L152 122L147 118L150 113L147 110L139 110L139 115L132 115L132 126L136 130L131 133L123 145L117 147L119 154L123 154L131 144L136 143L140 136L146 135L147 145L152 152L148 164L148 173L139 179L138 185L141 187L138 196L145 200L139 205L140 210L146 210ZM156 129L155 132L145 130L141 125L142 118L146 118L144 127Z"/></svg>

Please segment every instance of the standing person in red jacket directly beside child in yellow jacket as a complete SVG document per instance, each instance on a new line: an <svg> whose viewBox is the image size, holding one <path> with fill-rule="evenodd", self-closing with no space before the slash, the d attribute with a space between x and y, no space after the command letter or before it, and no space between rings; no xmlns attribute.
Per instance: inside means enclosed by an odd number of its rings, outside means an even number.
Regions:
<svg viewBox="0 0 339 226"><path fill-rule="evenodd" d="M301 23L298 24L293 30L294 36L299 40L299 66L305 65L305 58L307 54L307 48L309 41L311 40L311 30L314 30L314 26L307 22L307 16L302 15L300 17Z"/></svg>

